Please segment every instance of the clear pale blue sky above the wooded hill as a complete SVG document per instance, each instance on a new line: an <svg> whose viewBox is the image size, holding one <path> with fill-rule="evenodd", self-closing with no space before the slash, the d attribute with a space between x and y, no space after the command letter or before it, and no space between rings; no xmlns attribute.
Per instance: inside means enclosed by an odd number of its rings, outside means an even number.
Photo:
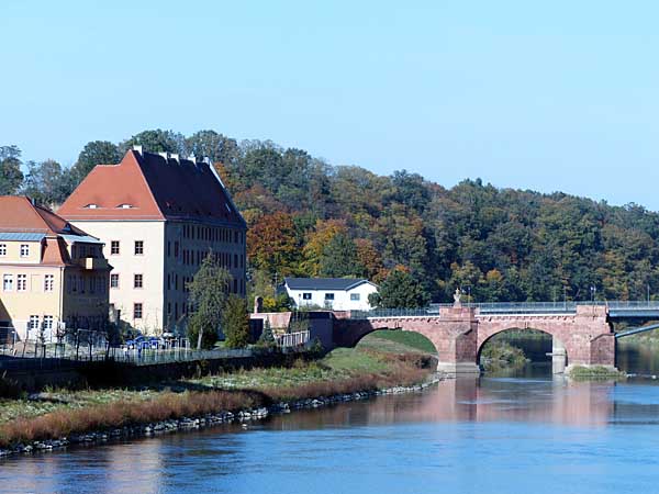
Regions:
<svg viewBox="0 0 659 494"><path fill-rule="evenodd" d="M659 3L0 2L0 145L214 128L659 210Z"/></svg>

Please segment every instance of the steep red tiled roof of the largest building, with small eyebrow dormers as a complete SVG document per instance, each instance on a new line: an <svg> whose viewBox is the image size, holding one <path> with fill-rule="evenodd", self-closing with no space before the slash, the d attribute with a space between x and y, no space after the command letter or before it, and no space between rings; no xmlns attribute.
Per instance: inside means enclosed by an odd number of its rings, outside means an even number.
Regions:
<svg viewBox="0 0 659 494"><path fill-rule="evenodd" d="M245 225L208 164L135 150L127 151L119 165L91 170L58 214L69 221L191 220Z"/></svg>

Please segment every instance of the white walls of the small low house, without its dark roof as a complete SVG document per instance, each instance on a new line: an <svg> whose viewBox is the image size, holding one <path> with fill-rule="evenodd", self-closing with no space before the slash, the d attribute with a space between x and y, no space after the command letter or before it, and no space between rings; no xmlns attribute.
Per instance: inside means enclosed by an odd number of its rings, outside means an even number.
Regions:
<svg viewBox="0 0 659 494"><path fill-rule="evenodd" d="M334 311L370 311L368 295L378 292L378 287L362 280L346 290L324 288L291 288L286 284L288 295L297 307L322 307Z"/></svg>

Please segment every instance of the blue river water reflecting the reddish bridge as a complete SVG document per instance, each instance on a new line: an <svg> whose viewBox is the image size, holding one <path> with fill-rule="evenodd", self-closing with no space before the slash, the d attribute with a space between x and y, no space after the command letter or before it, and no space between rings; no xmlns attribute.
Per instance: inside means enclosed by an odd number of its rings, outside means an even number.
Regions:
<svg viewBox="0 0 659 494"><path fill-rule="evenodd" d="M652 373L659 346L622 345ZM2 492L652 493L659 385L522 377L447 380L243 429L160 436L0 463Z"/></svg>

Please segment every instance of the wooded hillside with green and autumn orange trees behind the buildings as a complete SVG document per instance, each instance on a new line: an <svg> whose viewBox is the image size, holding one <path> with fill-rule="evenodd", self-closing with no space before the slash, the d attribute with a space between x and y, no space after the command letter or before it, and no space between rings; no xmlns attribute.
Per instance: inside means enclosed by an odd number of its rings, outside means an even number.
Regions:
<svg viewBox="0 0 659 494"><path fill-rule="evenodd" d="M94 165L118 161L133 144L216 164L250 226L250 276L260 292L289 274L381 282L394 269L435 302L451 300L456 287L483 302L590 300L591 287L597 299L638 300L659 290L659 214L641 206L480 180L445 189L404 170L379 176L213 131L90 142L71 169L27 161L24 177L20 150L0 147L0 193L55 205Z"/></svg>

